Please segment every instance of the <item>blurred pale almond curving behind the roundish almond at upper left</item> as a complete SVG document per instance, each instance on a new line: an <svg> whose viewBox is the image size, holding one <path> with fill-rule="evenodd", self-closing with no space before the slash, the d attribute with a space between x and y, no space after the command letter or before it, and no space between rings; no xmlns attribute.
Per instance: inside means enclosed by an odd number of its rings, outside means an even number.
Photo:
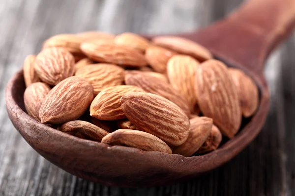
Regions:
<svg viewBox="0 0 295 196"><path fill-rule="evenodd" d="M80 49L80 45L83 39L74 34L59 34L55 35L43 44L43 49L50 47L60 47L68 50L73 54L76 60L80 60L85 57Z"/></svg>

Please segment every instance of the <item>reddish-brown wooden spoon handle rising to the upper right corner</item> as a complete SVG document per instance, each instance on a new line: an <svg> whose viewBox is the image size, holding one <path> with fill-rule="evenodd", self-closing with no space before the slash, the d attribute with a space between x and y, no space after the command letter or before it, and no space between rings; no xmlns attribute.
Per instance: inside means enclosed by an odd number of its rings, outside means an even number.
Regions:
<svg viewBox="0 0 295 196"><path fill-rule="evenodd" d="M269 52L295 26L295 0L248 0L225 19L182 35L218 58L262 73Z"/></svg>

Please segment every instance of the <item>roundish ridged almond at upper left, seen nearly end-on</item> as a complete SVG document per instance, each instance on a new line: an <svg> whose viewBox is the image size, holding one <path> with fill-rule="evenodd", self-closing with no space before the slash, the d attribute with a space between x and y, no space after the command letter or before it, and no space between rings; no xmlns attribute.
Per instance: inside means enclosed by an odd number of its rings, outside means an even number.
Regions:
<svg viewBox="0 0 295 196"><path fill-rule="evenodd" d="M34 69L39 78L49 85L57 85L63 79L74 74L75 59L62 48L42 50L36 57Z"/></svg>

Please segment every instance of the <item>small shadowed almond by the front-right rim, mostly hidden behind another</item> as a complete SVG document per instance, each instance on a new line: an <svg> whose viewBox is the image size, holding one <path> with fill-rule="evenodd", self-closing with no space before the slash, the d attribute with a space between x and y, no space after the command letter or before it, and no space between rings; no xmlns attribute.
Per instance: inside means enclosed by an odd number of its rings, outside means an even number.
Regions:
<svg viewBox="0 0 295 196"><path fill-rule="evenodd" d="M207 137L206 142L197 151L199 154L204 154L216 150L222 141L222 134L220 130L213 124L210 135Z"/></svg>

